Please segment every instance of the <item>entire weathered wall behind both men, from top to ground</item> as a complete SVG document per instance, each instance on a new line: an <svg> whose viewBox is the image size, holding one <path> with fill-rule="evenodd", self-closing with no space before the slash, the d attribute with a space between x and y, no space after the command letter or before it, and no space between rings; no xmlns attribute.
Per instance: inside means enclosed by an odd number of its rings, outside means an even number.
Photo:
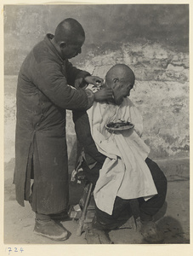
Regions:
<svg viewBox="0 0 193 256"><path fill-rule="evenodd" d="M17 73L25 55L42 38L42 32L46 33L48 27L51 32L55 24L61 20L61 8L44 7L37 9L31 7L31 15L36 16L37 20L29 20L27 7L9 7L5 15L5 79L4 79L4 123L5 123L5 151L4 160L9 161L14 158L14 127L15 127L15 90L17 83ZM6 10L5 9L5 10ZM139 108L144 117L145 131L143 138L150 148L150 157L154 159L166 158L188 158L189 157L189 52L187 44L187 17L186 6L182 5L166 7L150 6L143 7L132 5L105 6L100 9L104 14L98 13L99 6L87 6L86 10L76 6L73 17L82 20L82 26L86 26L88 41L85 48L82 48L82 55L72 59L72 63L77 67L88 70L101 77L105 77L106 71L116 63L125 63L133 69L136 76L134 90L131 93L133 103ZM64 10L64 9L63 9ZM118 19L118 11L122 10L122 19ZM126 11L127 10L127 11ZM135 11L134 11L135 10ZM153 11L154 10L154 11ZM161 13L166 18L165 25L161 20ZM175 12L173 12L175 10ZM181 12L179 12L180 10ZM65 12L70 15L71 7ZM108 13L109 12L109 13ZM54 20L54 14L58 14ZM143 37L138 37L138 33L131 33L133 40L129 40L130 28L125 32L128 24L128 13L138 14L141 20L132 15L132 28L138 28ZM17 14L17 15L16 15ZM49 14L49 16L47 16ZM84 14L84 16L82 16ZM170 16L167 16L170 14ZM96 16L88 24L91 15L96 15L99 20L99 28L105 21L111 26L108 38L104 35L99 42L99 30L96 29ZM109 20L109 16L115 16ZM135 17L135 18L134 18ZM104 20L105 19L105 20ZM22 27L22 20L26 20ZM49 20L49 22L48 22ZM51 20L54 20L52 23ZM142 22L144 21L144 23ZM19 22L20 21L20 22ZM57 22L56 22L57 21ZM154 24L156 21L156 25ZM95 22L95 23L94 23ZM116 26L112 24L117 23ZM145 23L146 22L146 23ZM34 25L38 27L34 28ZM54 24L54 25L53 25ZM124 24L124 25L123 25ZM135 24L135 26L134 26ZM154 24L154 26L150 26ZM22 29L19 31L19 27ZM147 28L149 27L149 32ZM93 29L92 29L93 28ZM94 30L95 28L95 30ZM120 29L122 28L122 31ZM143 29L146 34L143 33ZM173 28L173 29L172 29ZM107 26L104 25L105 32ZM186 33L184 32L186 30ZM177 39L174 31L179 34L181 39ZM13 33L12 33L13 32ZM34 32L34 37L31 34ZM114 32L114 33L113 33ZM96 35L94 34L96 33ZM19 39L20 35L26 34L26 38ZM86 33L87 34L87 33ZM97 36L97 37L94 37ZM167 37L166 37L167 36ZM11 41L15 37L14 41ZM31 38L31 40L30 40ZM94 41L94 38L96 40ZM155 39L157 38L157 39ZM182 39L183 38L183 39ZM11 43L12 42L12 43ZM14 42L14 44L13 44ZM14 55L13 61L12 57ZM76 135L71 121L71 112L67 112L67 138L70 162L73 163L76 155Z"/></svg>

